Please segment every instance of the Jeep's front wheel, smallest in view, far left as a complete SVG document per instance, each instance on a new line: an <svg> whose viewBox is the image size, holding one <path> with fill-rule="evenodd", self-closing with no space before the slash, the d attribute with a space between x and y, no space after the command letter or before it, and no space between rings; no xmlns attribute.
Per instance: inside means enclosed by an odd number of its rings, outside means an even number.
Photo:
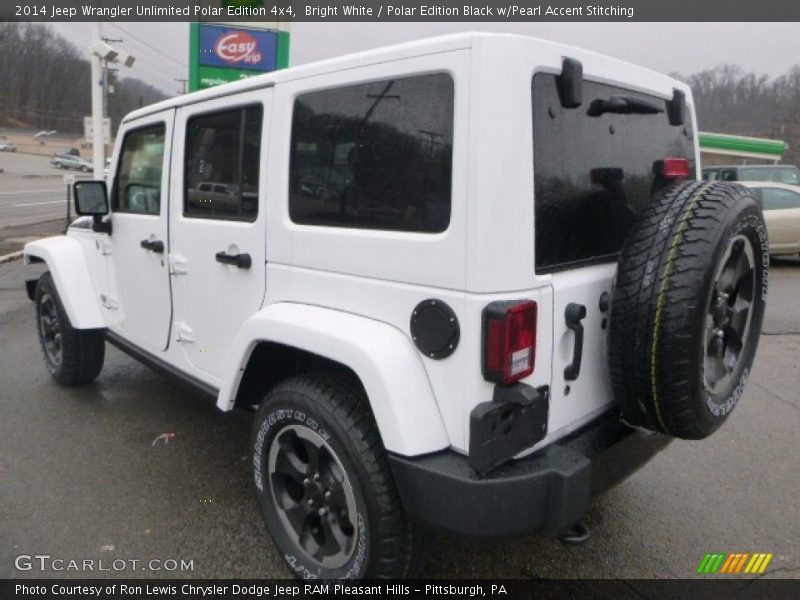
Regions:
<svg viewBox="0 0 800 600"><path fill-rule="evenodd" d="M49 272L39 278L34 302L39 345L45 366L53 379L70 387L94 381L105 360L106 346L102 331L72 327ZM55 329L50 329L48 324ZM52 343L56 335L58 352L55 352Z"/></svg>

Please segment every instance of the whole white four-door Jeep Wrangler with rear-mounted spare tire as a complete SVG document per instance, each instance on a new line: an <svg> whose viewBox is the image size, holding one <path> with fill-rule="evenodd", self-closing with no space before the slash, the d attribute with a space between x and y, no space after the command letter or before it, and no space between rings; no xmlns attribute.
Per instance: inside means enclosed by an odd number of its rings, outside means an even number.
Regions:
<svg viewBox="0 0 800 600"><path fill-rule="evenodd" d="M454 35L137 110L114 155L25 247L45 364L89 383L108 341L257 407L298 576L408 575L429 527L568 531L741 398L766 230L696 180L679 81Z"/></svg>

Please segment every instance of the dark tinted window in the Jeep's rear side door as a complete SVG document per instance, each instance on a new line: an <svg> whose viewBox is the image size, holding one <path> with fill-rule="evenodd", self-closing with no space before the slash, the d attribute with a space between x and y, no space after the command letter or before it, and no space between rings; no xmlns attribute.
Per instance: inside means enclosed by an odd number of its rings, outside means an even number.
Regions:
<svg viewBox="0 0 800 600"><path fill-rule="evenodd" d="M256 220L262 115L248 106L189 119L184 215Z"/></svg>

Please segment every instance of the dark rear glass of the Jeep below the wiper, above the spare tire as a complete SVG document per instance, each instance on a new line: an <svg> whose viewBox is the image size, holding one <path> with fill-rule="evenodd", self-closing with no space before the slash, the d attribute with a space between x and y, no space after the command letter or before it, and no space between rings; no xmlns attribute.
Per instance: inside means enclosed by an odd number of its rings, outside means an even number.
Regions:
<svg viewBox="0 0 800 600"><path fill-rule="evenodd" d="M654 163L689 159L694 178L691 123L670 125L662 98L591 81L581 106L563 108L546 73L534 76L532 96L536 270L613 261L651 198ZM658 112L590 116L595 100L613 97Z"/></svg>

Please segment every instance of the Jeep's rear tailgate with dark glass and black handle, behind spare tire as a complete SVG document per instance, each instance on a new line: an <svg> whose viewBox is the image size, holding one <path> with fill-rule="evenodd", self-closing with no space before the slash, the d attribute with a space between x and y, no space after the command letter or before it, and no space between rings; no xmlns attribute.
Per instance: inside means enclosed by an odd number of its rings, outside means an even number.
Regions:
<svg viewBox="0 0 800 600"><path fill-rule="evenodd" d="M595 100L619 96L656 112L590 116ZM664 99L592 81L583 98L563 108L556 77L534 77L536 272L551 275L553 290L550 431L613 401L606 337L617 255L650 200L654 163L682 157L695 167L691 124L670 125Z"/></svg>

